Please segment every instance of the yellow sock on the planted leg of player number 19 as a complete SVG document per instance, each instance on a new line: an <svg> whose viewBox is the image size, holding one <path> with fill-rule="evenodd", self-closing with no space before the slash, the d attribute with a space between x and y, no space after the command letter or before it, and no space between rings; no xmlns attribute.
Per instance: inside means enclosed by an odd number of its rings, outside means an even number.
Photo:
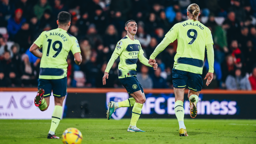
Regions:
<svg viewBox="0 0 256 144"><path fill-rule="evenodd" d="M51 122L51 128L50 128L49 134L51 134L51 135L55 134L55 130L57 129L57 127L60 123L62 112L63 112L62 106L55 105L53 113L52 113L52 122Z"/></svg>

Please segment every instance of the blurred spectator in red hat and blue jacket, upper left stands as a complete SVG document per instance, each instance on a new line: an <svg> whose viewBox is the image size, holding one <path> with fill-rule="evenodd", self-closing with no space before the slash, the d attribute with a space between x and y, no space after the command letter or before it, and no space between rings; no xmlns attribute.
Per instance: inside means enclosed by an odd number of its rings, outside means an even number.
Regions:
<svg viewBox="0 0 256 144"><path fill-rule="evenodd" d="M8 20L7 30L9 32L9 38L14 39L14 36L18 33L23 23L26 19L22 17L23 10L18 8L15 10L14 17Z"/></svg>

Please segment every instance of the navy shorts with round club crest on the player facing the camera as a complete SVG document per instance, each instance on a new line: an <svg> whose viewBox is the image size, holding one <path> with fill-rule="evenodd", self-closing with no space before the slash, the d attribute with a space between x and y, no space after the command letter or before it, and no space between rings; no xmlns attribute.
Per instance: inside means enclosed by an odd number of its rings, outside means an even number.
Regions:
<svg viewBox="0 0 256 144"><path fill-rule="evenodd" d="M136 76L119 78L119 80L127 90L128 94L137 92L139 90L141 90L141 92L144 93L143 88Z"/></svg>

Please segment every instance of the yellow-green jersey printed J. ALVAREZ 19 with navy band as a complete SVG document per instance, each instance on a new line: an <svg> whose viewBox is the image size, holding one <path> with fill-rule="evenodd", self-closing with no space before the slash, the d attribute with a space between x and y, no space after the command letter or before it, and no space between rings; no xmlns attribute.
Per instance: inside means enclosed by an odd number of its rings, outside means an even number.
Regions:
<svg viewBox="0 0 256 144"><path fill-rule="evenodd" d="M67 76L67 56L81 52L77 39L61 28L43 31L34 42L42 47L40 79L61 79Z"/></svg>

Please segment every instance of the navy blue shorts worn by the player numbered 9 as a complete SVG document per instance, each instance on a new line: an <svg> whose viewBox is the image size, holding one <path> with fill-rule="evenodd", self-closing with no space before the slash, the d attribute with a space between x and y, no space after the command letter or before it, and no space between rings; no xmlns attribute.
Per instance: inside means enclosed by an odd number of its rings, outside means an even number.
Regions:
<svg viewBox="0 0 256 144"><path fill-rule="evenodd" d="M203 80L201 74L172 69L173 87L185 88L198 92L202 90Z"/></svg>

